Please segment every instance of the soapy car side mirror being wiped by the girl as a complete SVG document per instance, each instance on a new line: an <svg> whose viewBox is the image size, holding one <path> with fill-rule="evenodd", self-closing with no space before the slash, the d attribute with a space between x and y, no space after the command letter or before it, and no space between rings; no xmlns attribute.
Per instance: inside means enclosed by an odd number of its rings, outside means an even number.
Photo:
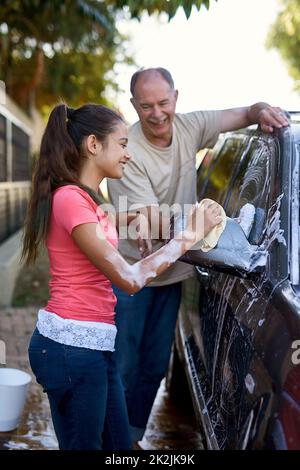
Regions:
<svg viewBox="0 0 300 470"><path fill-rule="evenodd" d="M205 253L198 246L195 245L180 261L239 277L250 277L262 272L266 266L267 252L251 245L240 225L229 217L215 248Z"/></svg>

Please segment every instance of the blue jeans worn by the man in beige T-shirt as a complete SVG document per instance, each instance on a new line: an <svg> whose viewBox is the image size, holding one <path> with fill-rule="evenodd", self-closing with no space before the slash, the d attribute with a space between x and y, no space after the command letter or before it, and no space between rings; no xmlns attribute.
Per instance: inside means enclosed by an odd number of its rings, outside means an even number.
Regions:
<svg viewBox="0 0 300 470"><path fill-rule="evenodd" d="M165 376L181 299L181 283L144 287L117 297L116 361L124 386L130 425L145 428Z"/></svg>

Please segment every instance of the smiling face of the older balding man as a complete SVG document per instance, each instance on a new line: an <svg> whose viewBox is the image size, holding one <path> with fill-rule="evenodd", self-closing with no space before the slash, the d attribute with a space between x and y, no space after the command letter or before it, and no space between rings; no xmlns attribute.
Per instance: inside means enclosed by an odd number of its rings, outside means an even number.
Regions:
<svg viewBox="0 0 300 470"><path fill-rule="evenodd" d="M177 90L172 89L160 74L139 77L131 102L150 142L171 143L177 96Z"/></svg>

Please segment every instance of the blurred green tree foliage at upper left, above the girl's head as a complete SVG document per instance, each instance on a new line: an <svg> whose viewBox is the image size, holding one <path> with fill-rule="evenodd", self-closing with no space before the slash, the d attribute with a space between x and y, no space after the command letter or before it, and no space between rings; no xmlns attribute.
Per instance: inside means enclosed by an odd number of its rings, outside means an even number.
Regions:
<svg viewBox="0 0 300 470"><path fill-rule="evenodd" d="M212 0L211 0L212 1ZM217 0L216 0L217 1ZM0 79L19 105L30 111L52 107L59 98L71 105L107 103L107 86L117 62L132 63L116 18L141 18L146 10L166 13L210 0L0 0Z"/></svg>

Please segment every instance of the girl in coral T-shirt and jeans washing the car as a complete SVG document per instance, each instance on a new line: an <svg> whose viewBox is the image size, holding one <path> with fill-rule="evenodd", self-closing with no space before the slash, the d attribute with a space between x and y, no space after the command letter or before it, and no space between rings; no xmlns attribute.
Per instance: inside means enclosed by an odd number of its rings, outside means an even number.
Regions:
<svg viewBox="0 0 300 470"><path fill-rule="evenodd" d="M116 228L98 196L103 178L121 178L130 159L126 144L126 126L116 112L60 104L49 117L33 177L23 257L34 262L45 242L51 281L29 359L48 395L60 449L131 448L113 354L112 283L134 294L221 221L218 204L196 206L179 236L129 265L117 251ZM198 233L196 217L203 220Z"/></svg>

